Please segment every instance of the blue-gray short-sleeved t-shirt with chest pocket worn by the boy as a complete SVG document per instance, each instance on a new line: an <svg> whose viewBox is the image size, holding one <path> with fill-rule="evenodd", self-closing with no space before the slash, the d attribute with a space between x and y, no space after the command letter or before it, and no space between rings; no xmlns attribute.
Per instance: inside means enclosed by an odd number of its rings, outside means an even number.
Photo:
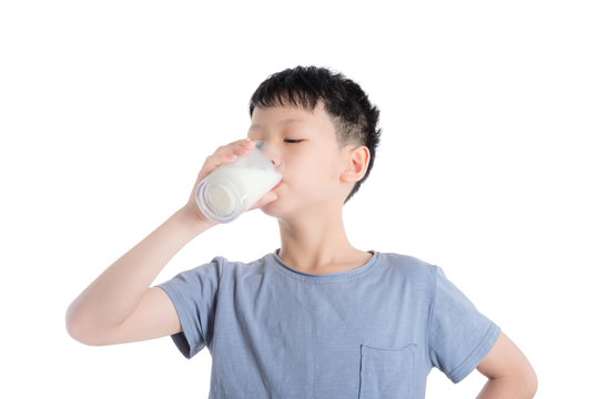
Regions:
<svg viewBox="0 0 598 399"><path fill-rule="evenodd" d="M191 358L212 356L210 398L424 398L432 367L458 382L500 329L438 266L371 252L364 266L307 274L277 250L215 257L159 285Z"/></svg>

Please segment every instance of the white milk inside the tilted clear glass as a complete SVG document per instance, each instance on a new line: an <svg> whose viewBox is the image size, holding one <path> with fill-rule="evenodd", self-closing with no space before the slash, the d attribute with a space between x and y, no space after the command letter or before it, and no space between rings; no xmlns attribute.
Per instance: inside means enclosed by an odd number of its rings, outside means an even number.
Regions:
<svg viewBox="0 0 598 399"><path fill-rule="evenodd" d="M244 198L242 209L239 212L242 213L272 190L283 178L283 175L275 171L223 165L207 177L210 178L210 190L206 192L206 198L216 213L226 215L234 211L234 204L237 203L233 198L235 193L226 188L231 183L239 190L241 196L239 203Z"/></svg>

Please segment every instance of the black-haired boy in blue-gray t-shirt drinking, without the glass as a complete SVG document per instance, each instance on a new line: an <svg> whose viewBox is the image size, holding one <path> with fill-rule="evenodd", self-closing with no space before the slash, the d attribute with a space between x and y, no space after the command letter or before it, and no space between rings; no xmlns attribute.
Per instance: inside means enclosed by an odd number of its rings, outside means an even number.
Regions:
<svg viewBox="0 0 598 399"><path fill-rule="evenodd" d="M498 326L417 258L354 248L344 203L372 170L378 110L353 81L288 69L251 99L247 139L221 146L187 203L100 275L69 307L88 345L172 336L191 358L212 355L211 398L424 398L432 367L454 382L474 368L479 398L531 398L535 372ZM276 217L280 249L249 264L215 257L150 287L192 238L215 224L194 190L255 140L285 160L282 184L252 208Z"/></svg>

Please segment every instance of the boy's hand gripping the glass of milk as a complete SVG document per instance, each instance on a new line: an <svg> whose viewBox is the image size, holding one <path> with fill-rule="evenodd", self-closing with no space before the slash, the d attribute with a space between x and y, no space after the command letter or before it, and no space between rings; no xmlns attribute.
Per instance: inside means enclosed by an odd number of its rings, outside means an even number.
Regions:
<svg viewBox="0 0 598 399"><path fill-rule="evenodd" d="M237 140L226 145L222 145L214 151L214 153L205 158L203 166L197 174L195 184L193 184L193 190L189 196L187 203L183 206L190 217L196 219L199 223L207 223L211 225L216 225L210 221L205 215L200 211L197 203L195 202L195 191L197 185L202 180L204 180L210 173L214 172L221 165L233 163L237 156L249 155L251 150L255 146L255 142L250 141L249 139ZM268 192L264 195L251 209L255 209L264 206L265 204L276 200L276 194Z"/></svg>

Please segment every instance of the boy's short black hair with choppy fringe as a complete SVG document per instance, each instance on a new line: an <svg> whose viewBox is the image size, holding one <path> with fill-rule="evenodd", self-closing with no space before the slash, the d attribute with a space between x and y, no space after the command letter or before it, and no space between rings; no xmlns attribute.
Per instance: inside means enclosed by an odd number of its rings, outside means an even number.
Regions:
<svg viewBox="0 0 598 399"><path fill-rule="evenodd" d="M373 105L362 88L338 72L326 68L296 66L270 75L255 90L250 101L250 116L257 108L293 105L313 111L317 102L331 116L339 147L347 144L365 145L369 150L369 164L363 178L345 198L345 203L359 190L369 175L379 144L377 127L379 110Z"/></svg>

